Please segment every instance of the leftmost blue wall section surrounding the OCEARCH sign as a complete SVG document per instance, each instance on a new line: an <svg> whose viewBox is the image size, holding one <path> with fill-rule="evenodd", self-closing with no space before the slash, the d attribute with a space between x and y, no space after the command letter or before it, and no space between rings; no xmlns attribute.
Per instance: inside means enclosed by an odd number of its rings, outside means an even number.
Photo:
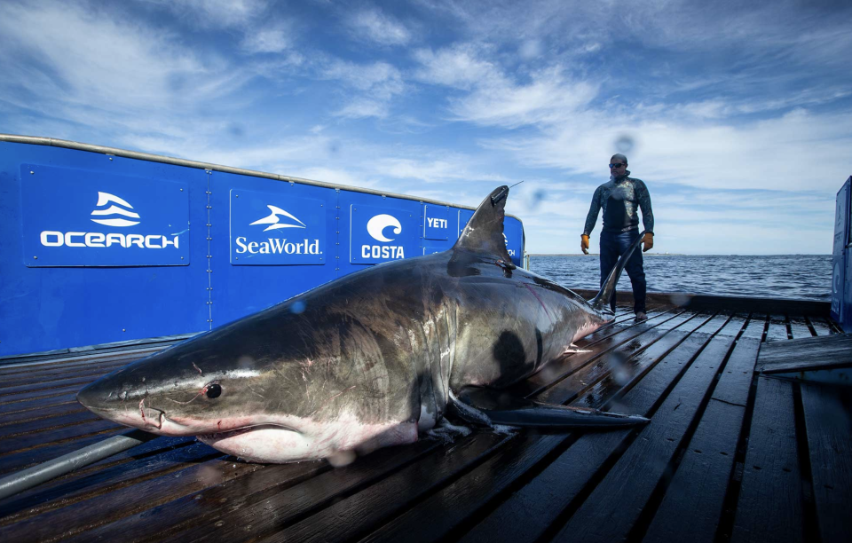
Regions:
<svg viewBox="0 0 852 543"><path fill-rule="evenodd" d="M201 265L28 267L22 261L21 164L83 170L92 178L134 179L134 185L188 186L193 238L185 260ZM30 170L25 171L28 177ZM28 183L27 178L24 185ZM0 356L208 329L206 241L194 229L206 222L206 185L201 169L0 142ZM138 208L134 197L124 199L138 209L139 226L148 224L150 212ZM86 201L84 223L98 225L89 220L96 203ZM183 239L180 244L185 248Z"/></svg>

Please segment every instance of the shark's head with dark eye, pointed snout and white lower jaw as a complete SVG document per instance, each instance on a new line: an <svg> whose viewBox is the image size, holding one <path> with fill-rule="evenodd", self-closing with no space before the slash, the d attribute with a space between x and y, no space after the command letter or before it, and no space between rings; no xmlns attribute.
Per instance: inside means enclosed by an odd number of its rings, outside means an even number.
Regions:
<svg viewBox="0 0 852 543"><path fill-rule="evenodd" d="M403 428L399 417L359 412L368 405L361 395L373 375L352 372L339 348L327 356L308 352L297 319L281 317L286 307L277 313L139 360L91 383L77 399L107 420L164 436L197 436L247 460L334 460L414 440L416 422ZM277 333L267 326L275 322ZM280 333L288 327L296 334Z"/></svg>

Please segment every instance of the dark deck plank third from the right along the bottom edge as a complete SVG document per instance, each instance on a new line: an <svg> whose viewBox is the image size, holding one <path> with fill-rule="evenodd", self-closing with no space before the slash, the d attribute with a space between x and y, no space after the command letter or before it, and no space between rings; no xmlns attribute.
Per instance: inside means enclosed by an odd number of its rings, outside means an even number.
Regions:
<svg viewBox="0 0 852 543"><path fill-rule="evenodd" d="M742 338L731 352L644 541L715 539L759 348Z"/></svg>

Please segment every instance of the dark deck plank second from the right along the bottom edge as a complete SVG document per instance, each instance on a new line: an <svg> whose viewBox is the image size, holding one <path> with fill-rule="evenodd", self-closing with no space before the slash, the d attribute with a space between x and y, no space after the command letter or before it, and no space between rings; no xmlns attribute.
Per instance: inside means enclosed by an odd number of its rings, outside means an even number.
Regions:
<svg viewBox="0 0 852 543"><path fill-rule="evenodd" d="M801 541L793 383L760 377L731 541Z"/></svg>

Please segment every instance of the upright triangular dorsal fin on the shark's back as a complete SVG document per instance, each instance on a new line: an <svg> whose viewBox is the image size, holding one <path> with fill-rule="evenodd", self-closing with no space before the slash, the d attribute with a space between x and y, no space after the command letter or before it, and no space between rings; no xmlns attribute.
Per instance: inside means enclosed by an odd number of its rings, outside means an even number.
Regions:
<svg viewBox="0 0 852 543"><path fill-rule="evenodd" d="M508 186L503 185L494 189L479 204L453 248L485 253L505 262L511 262L512 258L506 250L506 237L503 235L507 196L509 196Z"/></svg>

